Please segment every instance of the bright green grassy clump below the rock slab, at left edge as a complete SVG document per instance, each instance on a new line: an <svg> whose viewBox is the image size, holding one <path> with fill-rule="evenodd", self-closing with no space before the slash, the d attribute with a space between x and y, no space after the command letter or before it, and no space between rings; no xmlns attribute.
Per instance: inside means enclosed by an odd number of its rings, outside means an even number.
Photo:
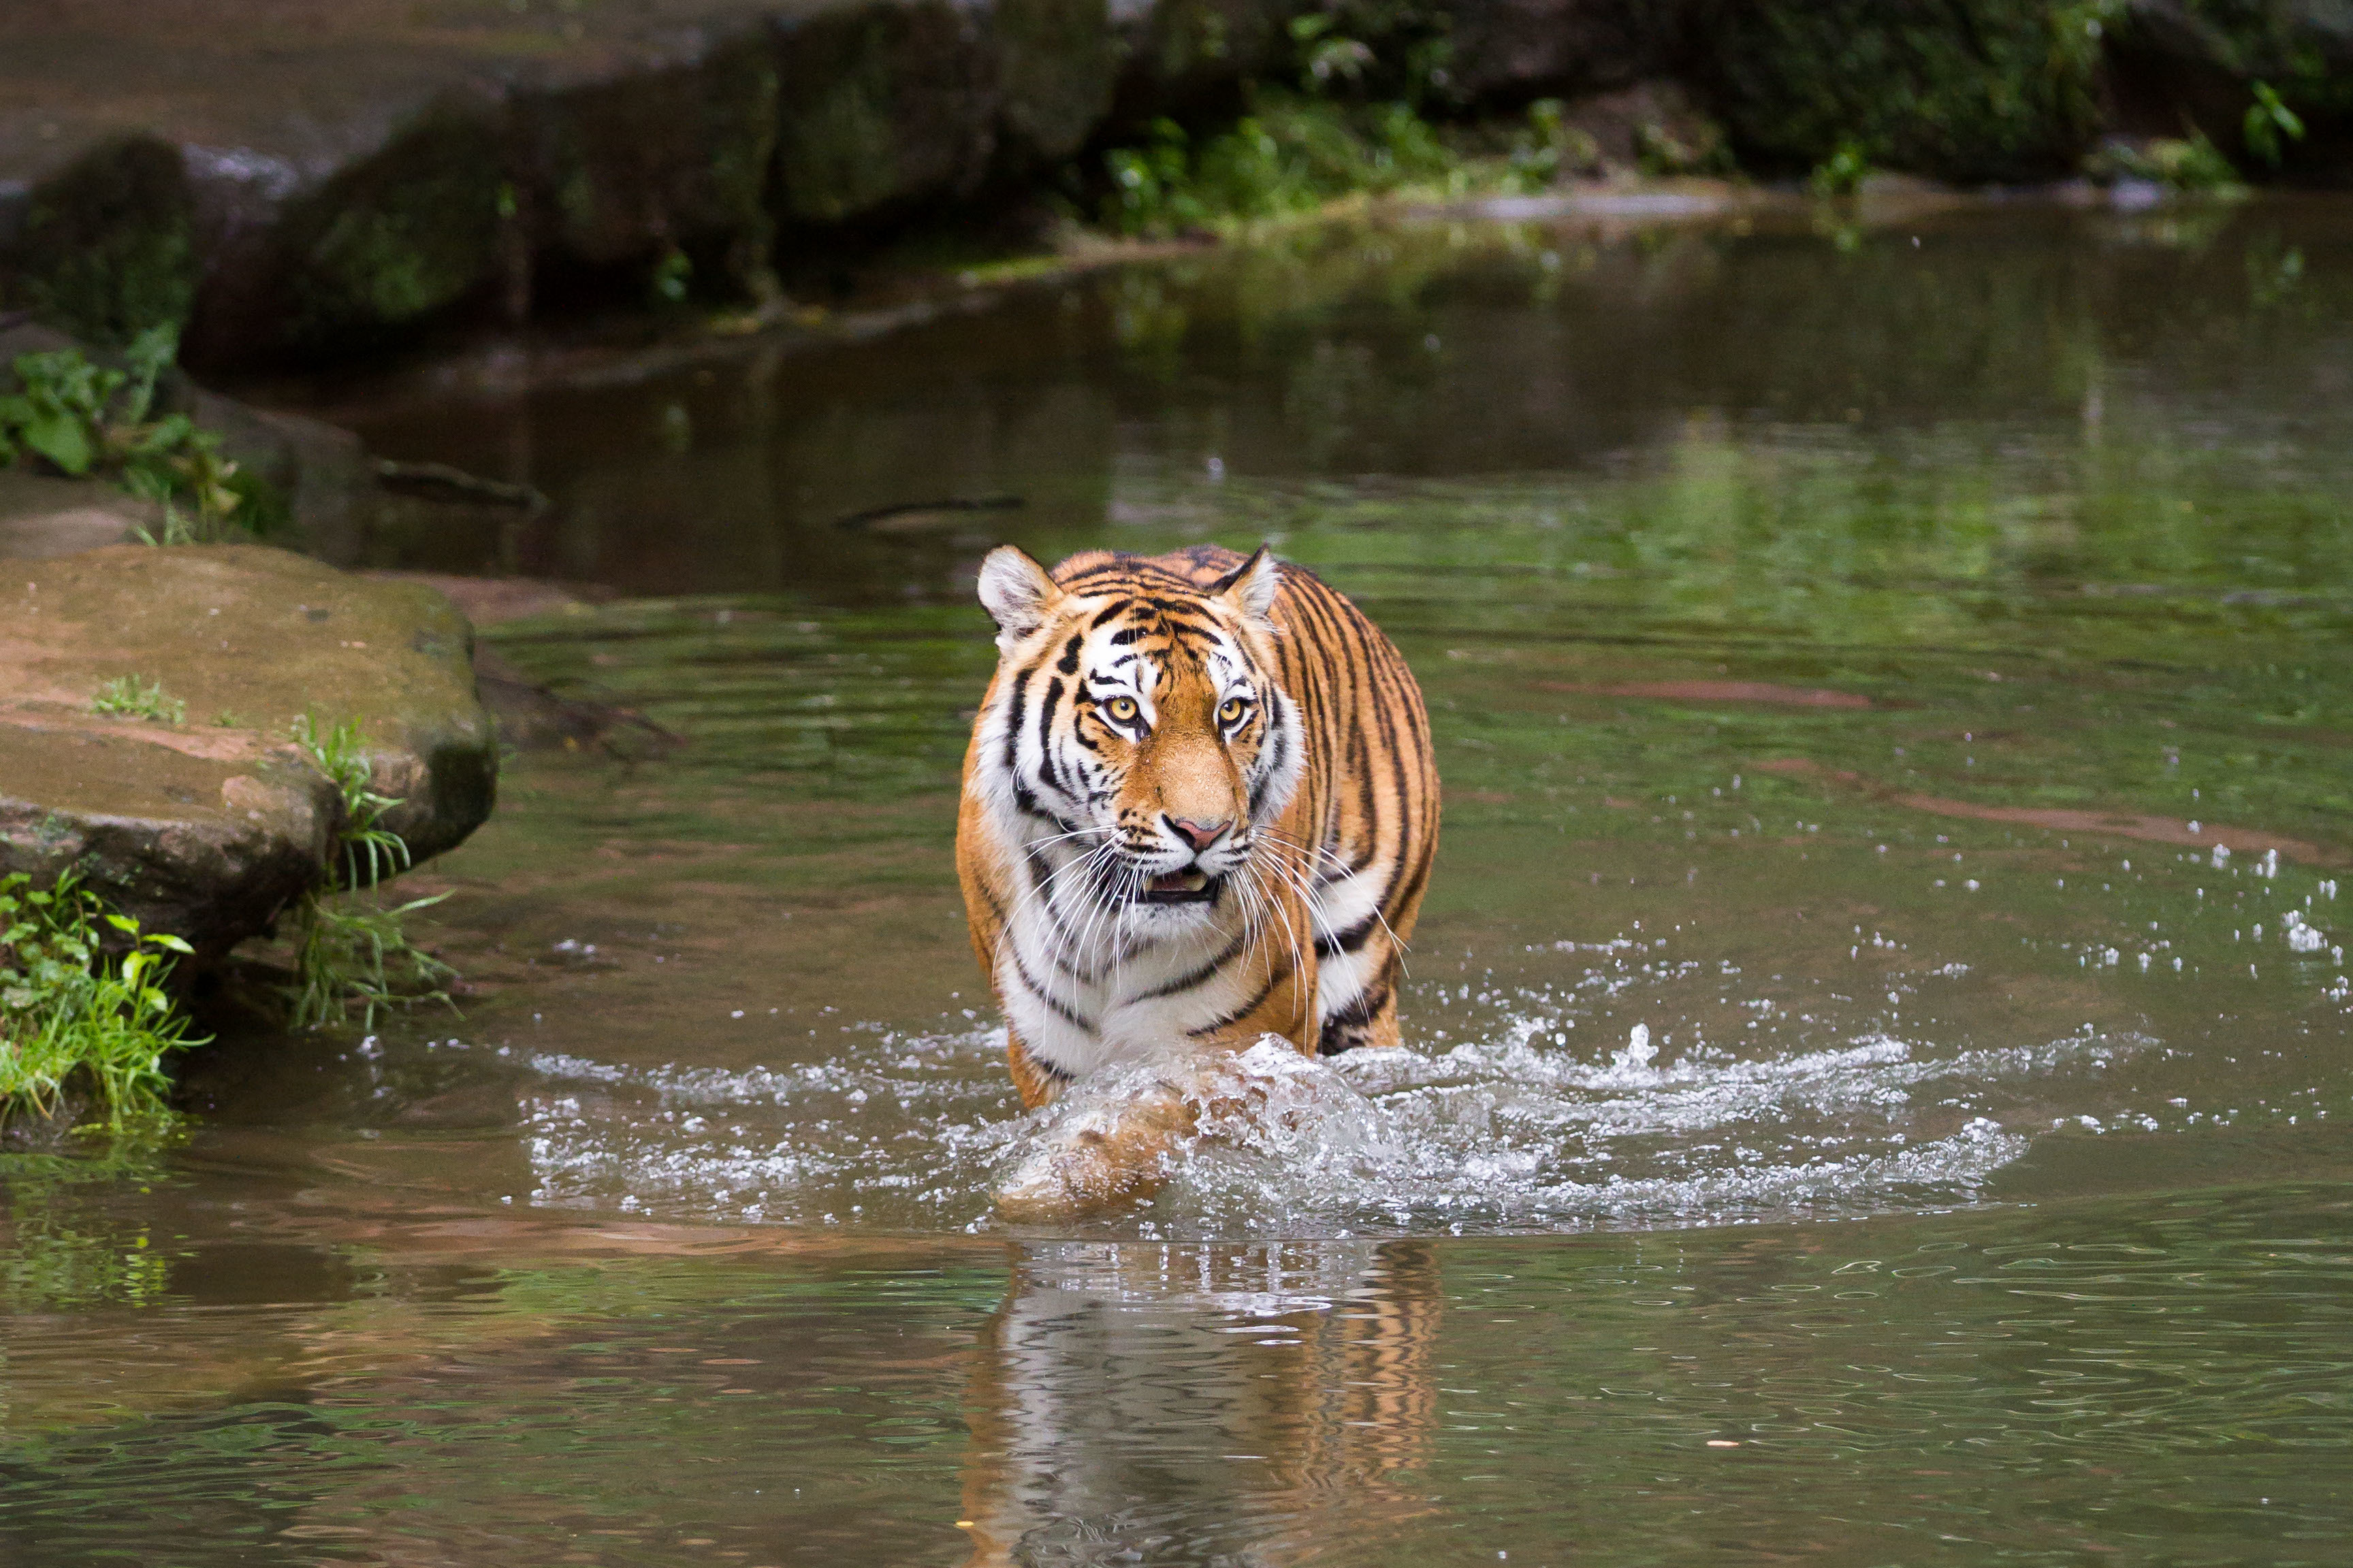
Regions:
<svg viewBox="0 0 2353 1568"><path fill-rule="evenodd" d="M129 945L101 950L101 926ZM75 872L47 891L24 872L0 877L0 1114L49 1114L85 1079L111 1126L162 1110L162 1058L188 1037L165 980L188 943L141 933L108 912Z"/></svg>

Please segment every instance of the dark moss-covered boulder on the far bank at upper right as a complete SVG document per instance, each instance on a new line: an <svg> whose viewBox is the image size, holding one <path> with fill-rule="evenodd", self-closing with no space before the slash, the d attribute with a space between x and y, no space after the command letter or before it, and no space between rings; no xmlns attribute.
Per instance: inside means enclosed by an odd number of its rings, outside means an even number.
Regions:
<svg viewBox="0 0 2353 1568"><path fill-rule="evenodd" d="M2075 165L2118 0L1706 0L1697 38L1744 162L1847 150L1951 181Z"/></svg>

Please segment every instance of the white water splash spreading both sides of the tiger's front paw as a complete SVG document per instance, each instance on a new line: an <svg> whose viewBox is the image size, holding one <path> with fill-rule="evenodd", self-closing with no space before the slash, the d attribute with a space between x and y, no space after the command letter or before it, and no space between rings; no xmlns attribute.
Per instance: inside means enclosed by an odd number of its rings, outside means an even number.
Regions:
<svg viewBox="0 0 2353 1568"><path fill-rule="evenodd" d="M1591 1060L1527 1016L1447 1051L1249 1058L1271 1114L1209 1117L1148 1204L1075 1234L1395 1237L1574 1232L1969 1204L2047 1126L2059 1079L2146 1041L2080 1032L1929 1048L1661 1060L1647 1025ZM1264 1060L1259 1060L1264 1058ZM1024 1114L1002 1032L847 1034L748 1072L529 1058L534 1201L671 1218L988 1229L988 1192L1040 1135L1113 1114L1104 1074ZM2106 1107L2101 1107L2106 1110Z"/></svg>

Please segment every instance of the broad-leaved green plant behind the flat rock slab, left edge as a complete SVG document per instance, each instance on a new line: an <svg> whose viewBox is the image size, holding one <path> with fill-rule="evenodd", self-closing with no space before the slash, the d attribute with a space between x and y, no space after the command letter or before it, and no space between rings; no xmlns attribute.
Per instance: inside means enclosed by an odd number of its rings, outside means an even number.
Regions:
<svg viewBox="0 0 2353 1568"><path fill-rule="evenodd" d="M165 505L165 534L219 538L238 531L249 489L221 456L221 437L186 414L148 418L155 381L179 353L172 327L141 331L125 369L92 364L78 348L16 355L16 390L0 397L0 463L42 463L71 477L99 475ZM179 503L195 510L174 524ZM242 512L240 512L242 508ZM158 541L148 541L158 543Z"/></svg>

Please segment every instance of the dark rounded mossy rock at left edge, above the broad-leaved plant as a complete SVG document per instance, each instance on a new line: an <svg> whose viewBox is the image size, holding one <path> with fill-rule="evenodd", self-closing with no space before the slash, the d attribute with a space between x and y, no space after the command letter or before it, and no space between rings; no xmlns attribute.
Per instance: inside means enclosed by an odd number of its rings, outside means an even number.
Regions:
<svg viewBox="0 0 2353 1568"><path fill-rule="evenodd" d="M33 190L9 296L108 348L179 327L195 299L191 223L174 148L146 136L99 146Z"/></svg>

